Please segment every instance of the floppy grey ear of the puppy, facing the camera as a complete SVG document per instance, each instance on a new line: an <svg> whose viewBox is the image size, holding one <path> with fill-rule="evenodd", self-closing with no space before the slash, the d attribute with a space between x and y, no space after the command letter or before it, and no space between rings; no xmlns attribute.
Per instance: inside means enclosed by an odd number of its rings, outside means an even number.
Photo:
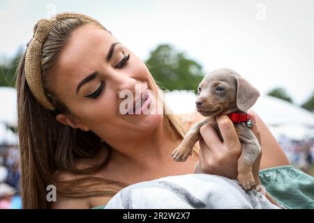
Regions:
<svg viewBox="0 0 314 223"><path fill-rule="evenodd" d="M246 112L251 108L258 97L260 97L260 92L255 89L255 87L248 83L246 79L242 77L236 77L237 79L237 107Z"/></svg>

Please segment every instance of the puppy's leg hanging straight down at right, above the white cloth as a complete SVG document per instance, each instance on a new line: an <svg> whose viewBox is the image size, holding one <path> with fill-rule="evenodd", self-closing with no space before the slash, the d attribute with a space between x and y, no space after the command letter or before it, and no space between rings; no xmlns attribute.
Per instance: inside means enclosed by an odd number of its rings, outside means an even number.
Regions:
<svg viewBox="0 0 314 223"><path fill-rule="evenodd" d="M242 153L238 160L238 181L239 185L246 192L256 187L252 167L260 154L260 144L257 139L251 139L250 143L242 143Z"/></svg>

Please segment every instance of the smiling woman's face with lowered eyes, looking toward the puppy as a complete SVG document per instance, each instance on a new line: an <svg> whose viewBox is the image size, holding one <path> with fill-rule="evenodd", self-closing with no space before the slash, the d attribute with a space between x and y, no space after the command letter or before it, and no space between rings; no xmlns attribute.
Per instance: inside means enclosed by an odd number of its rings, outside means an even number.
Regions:
<svg viewBox="0 0 314 223"><path fill-rule="evenodd" d="M162 121L162 114L154 112L121 114L120 104L126 100L119 97L121 92L130 92L131 102L138 102L145 90L154 89L154 83L135 54L94 24L73 31L51 74L52 91L70 110L70 116L57 115L61 123L92 130L110 141L151 132ZM156 107L153 99L150 109Z"/></svg>

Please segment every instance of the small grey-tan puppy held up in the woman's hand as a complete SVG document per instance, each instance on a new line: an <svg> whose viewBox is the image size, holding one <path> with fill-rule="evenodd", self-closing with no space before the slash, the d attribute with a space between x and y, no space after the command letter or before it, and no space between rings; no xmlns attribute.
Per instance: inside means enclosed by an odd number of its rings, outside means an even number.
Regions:
<svg viewBox="0 0 314 223"><path fill-rule="evenodd" d="M200 128L202 125L208 123L212 125L220 140L223 141L216 123L216 116L234 113L238 115L240 113L242 117L246 116L248 109L255 104L260 96L257 89L231 69L218 69L205 75L198 87L197 94L198 97L195 102L197 112L206 118L195 123L181 144L172 152L172 157L177 162L185 162L188 155L191 155L193 146L201 137ZM256 187L252 167L261 151L260 144L251 130L252 125L253 123L249 119L247 122L234 123L242 146L241 156L238 160L237 179L239 185L246 191Z"/></svg>

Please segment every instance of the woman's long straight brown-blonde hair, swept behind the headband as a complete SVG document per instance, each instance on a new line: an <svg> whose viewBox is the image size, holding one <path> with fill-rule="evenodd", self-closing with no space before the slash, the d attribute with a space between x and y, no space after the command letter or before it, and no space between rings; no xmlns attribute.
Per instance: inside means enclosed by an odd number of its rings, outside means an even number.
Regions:
<svg viewBox="0 0 314 223"><path fill-rule="evenodd" d="M69 111L50 91L50 70L73 30L89 23L98 25L82 17L60 20L52 26L40 49L40 69L45 95L52 106L63 114ZM38 102L27 82L25 57L26 53L17 68L16 82L23 208L49 208L50 202L46 199L47 185L55 185L58 193L68 197L113 196L121 187L126 187L126 183L93 176L67 181L56 178L57 171L70 171L77 175L96 173L107 160L94 167L77 169L75 159L95 157L100 149L105 148L110 152L111 148L94 132L62 125L55 119L52 110ZM159 89L154 78L151 75L149 78L154 83L154 90ZM185 130L182 123L177 116L171 114L167 105L164 107L163 126L172 139L183 139Z"/></svg>

